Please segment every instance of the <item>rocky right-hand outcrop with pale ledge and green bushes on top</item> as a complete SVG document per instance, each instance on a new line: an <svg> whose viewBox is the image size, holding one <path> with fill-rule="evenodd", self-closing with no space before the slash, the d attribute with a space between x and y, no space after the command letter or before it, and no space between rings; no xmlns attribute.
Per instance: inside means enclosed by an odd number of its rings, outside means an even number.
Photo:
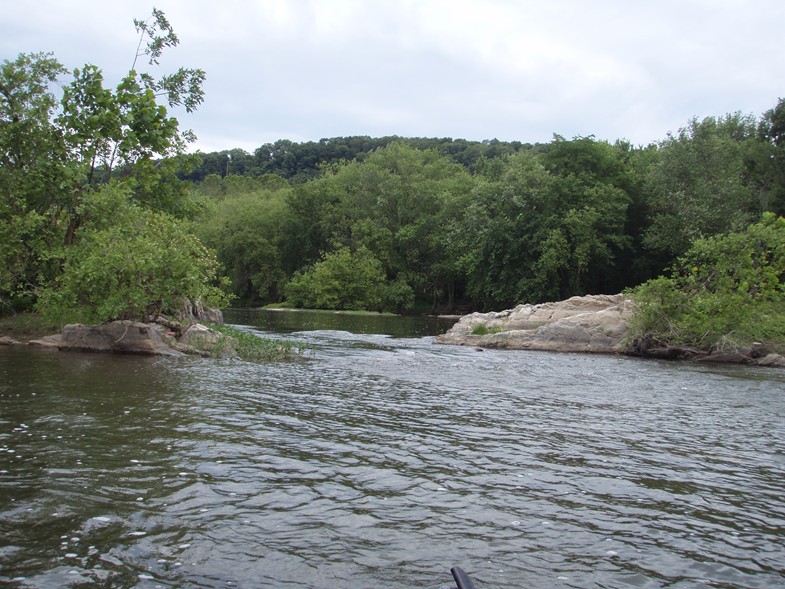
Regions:
<svg viewBox="0 0 785 589"><path fill-rule="evenodd" d="M698 239L625 294L474 313L437 342L785 367L785 218Z"/></svg>

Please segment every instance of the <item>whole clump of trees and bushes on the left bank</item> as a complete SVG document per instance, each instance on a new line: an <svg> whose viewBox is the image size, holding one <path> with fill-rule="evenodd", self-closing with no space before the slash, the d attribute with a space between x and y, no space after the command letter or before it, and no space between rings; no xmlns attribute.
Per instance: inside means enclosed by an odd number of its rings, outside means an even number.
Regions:
<svg viewBox="0 0 785 589"><path fill-rule="evenodd" d="M204 72L156 77L179 40L159 10L134 24L134 65L113 88L99 67L69 74L46 53L0 66L0 310L38 301L62 320L103 321L223 300L217 262L183 220L198 210L178 178L193 135L168 111L198 107Z"/></svg>

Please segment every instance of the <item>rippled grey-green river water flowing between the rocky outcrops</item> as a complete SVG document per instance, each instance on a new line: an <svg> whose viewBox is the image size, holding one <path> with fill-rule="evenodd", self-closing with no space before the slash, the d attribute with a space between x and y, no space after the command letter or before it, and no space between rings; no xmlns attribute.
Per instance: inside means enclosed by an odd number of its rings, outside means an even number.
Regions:
<svg viewBox="0 0 785 589"><path fill-rule="evenodd" d="M785 586L785 371L227 318L311 350L0 348L0 585Z"/></svg>

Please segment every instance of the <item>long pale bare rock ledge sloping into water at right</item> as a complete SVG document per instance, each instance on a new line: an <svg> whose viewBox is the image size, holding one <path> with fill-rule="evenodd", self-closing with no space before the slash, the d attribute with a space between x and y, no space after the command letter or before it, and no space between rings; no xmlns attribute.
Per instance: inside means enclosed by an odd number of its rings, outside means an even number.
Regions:
<svg viewBox="0 0 785 589"><path fill-rule="evenodd" d="M588 295L463 317L438 343L551 352L626 352L633 303L623 295Z"/></svg>

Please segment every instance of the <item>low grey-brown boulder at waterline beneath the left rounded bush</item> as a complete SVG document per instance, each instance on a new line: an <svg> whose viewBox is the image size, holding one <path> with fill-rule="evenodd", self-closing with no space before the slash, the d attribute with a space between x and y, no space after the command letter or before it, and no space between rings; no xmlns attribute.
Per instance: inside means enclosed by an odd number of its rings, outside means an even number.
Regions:
<svg viewBox="0 0 785 589"><path fill-rule="evenodd" d="M178 356L166 329L151 323L113 321L103 325L75 323L63 328L60 349L82 352L118 352Z"/></svg>

